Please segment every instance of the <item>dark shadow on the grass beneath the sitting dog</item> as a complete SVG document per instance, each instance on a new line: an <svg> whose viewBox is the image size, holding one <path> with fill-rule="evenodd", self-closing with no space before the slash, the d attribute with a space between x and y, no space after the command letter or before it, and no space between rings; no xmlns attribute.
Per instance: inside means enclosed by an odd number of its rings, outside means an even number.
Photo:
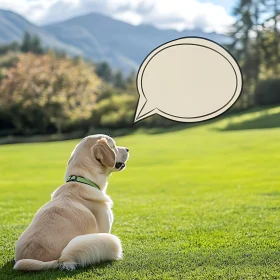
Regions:
<svg viewBox="0 0 280 280"><path fill-rule="evenodd" d="M15 261L13 259L6 262L1 267L1 280L11 280L11 279L21 279L21 277L30 277L36 279L56 279L59 277L65 277L76 279L76 275L84 272L91 272L96 276L102 276L100 269L109 268L113 265L113 261L102 262L100 264L90 265L86 267L77 267L75 270L61 270L61 269L52 269L52 270L42 270L42 271L17 271L14 270ZM6 278L5 278L6 277Z"/></svg>

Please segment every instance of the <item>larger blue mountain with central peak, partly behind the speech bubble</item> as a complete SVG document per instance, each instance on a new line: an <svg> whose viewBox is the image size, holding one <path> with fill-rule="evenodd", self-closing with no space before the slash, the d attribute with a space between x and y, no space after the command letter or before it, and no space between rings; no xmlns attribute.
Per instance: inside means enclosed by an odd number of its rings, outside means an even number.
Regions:
<svg viewBox="0 0 280 280"><path fill-rule="evenodd" d="M224 43L228 38L201 30L161 30L150 25L134 26L108 16L90 13L44 27L57 39L80 49L84 56L106 60L123 70L137 69L161 44L186 36L200 36Z"/></svg>

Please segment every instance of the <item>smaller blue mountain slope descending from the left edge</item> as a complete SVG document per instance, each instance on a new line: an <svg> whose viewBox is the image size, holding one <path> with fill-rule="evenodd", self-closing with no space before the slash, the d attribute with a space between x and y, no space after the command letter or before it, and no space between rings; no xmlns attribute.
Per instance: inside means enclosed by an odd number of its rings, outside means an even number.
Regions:
<svg viewBox="0 0 280 280"><path fill-rule="evenodd" d="M59 41L54 35L30 23L22 16L14 12L0 10L0 45L21 41L25 31L30 32L32 35L38 35L44 47L67 50L71 55L83 54L79 49Z"/></svg>

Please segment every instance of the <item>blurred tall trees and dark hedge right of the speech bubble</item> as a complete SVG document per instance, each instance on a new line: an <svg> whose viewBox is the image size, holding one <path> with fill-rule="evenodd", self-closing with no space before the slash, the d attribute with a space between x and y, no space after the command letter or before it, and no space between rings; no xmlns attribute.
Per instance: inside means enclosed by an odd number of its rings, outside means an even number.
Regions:
<svg viewBox="0 0 280 280"><path fill-rule="evenodd" d="M235 108L279 105L279 97L275 96L280 92L271 87L271 79L275 85L279 83L280 1L239 0L233 14L236 22L229 32L232 42L226 48L239 62L244 79L243 93Z"/></svg>

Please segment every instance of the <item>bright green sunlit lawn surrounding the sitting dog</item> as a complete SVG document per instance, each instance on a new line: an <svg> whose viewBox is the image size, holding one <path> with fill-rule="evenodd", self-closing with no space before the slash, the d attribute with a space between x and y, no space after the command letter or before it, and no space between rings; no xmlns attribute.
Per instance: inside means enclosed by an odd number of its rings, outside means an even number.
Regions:
<svg viewBox="0 0 280 280"><path fill-rule="evenodd" d="M108 189L124 259L74 272L12 267L78 141L1 146L0 279L280 279L279 113L117 138L131 152Z"/></svg>

